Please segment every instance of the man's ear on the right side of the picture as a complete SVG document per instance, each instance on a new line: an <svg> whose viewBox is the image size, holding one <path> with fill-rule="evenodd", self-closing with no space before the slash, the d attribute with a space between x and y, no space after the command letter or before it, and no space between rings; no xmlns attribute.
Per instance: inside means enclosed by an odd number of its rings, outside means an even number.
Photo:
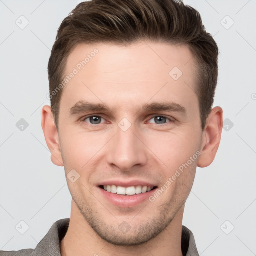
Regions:
<svg viewBox="0 0 256 256"><path fill-rule="evenodd" d="M217 153L223 127L223 110L216 106L211 109L202 133L201 155L198 157L197 166L209 166Z"/></svg>

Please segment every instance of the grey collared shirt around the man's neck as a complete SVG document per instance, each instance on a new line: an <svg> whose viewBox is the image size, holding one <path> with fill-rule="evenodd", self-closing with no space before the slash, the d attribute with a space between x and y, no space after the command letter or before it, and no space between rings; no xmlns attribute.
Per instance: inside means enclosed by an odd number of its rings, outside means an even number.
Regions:
<svg viewBox="0 0 256 256"><path fill-rule="evenodd" d="M60 241L67 232L69 220L64 218L56 221L35 249L0 250L0 256L61 256ZM185 226L182 226L181 248L183 256L199 256L193 233Z"/></svg>

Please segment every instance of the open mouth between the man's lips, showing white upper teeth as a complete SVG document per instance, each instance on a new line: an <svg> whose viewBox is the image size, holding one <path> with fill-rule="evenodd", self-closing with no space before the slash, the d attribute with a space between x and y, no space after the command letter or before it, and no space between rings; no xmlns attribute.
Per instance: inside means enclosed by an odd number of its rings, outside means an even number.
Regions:
<svg viewBox="0 0 256 256"><path fill-rule="evenodd" d="M116 185L101 185L99 186L101 189L104 189L107 192L115 193L118 195L135 195L141 193L150 192L153 189L156 189L157 186L116 186Z"/></svg>

